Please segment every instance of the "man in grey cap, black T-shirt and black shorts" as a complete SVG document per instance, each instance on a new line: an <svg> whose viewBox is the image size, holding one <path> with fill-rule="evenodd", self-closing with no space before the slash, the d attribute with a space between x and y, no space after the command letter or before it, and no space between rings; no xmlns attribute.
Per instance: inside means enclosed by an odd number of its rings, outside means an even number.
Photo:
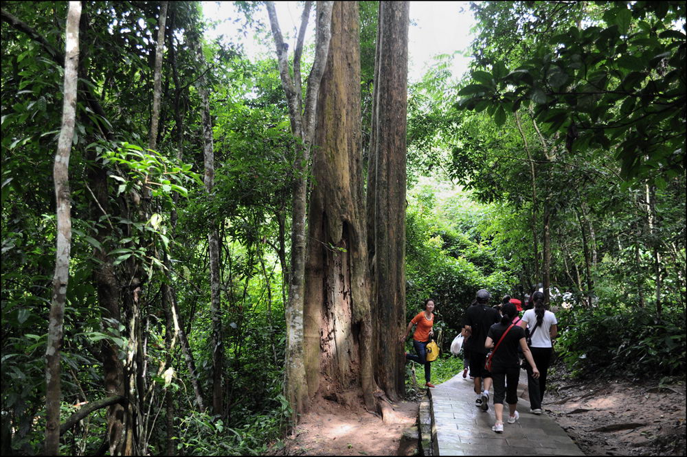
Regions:
<svg viewBox="0 0 687 457"><path fill-rule="evenodd" d="M465 312L465 333L468 339L464 343L470 351L470 374L475 382L475 406L482 408L482 411L489 409L489 388L491 388L491 373L484 368L487 350L484 341L489 328L499 322L501 316L499 312L486 304L489 302L491 294L484 289L477 291L475 295L475 306L471 306ZM484 390L482 390L482 380L484 380Z"/></svg>

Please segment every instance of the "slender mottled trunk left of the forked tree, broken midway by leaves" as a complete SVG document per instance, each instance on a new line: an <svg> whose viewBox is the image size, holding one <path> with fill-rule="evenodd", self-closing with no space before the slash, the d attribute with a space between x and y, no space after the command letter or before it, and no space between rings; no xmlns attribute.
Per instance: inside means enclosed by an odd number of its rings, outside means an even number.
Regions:
<svg viewBox="0 0 687 457"><path fill-rule="evenodd" d="M205 67L205 56L200 40L196 40L196 57L201 68ZM199 78L197 84L201 97L201 124L203 125L203 156L205 175L203 183L205 191L212 198L214 187L214 141L212 138L212 119L210 119L210 101L205 88L205 76ZM210 253L210 316L212 318L212 411L214 414L223 413L223 364L224 344L222 338L222 309L220 300L220 249L217 229L207 234L207 249Z"/></svg>

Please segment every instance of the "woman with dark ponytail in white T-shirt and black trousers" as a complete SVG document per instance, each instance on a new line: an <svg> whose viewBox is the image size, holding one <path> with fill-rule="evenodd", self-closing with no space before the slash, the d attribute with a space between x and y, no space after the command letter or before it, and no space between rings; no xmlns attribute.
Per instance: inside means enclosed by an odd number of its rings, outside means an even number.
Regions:
<svg viewBox="0 0 687 457"><path fill-rule="evenodd" d="M530 340L532 345L532 358L539 367L539 377L532 375L532 370L527 369L527 390L530 396L530 412L541 414L541 402L544 399L546 390L546 375L551 362L553 353L552 339L558 333L558 321L556 315L544 307L544 294L534 292L532 294L534 309L528 309L522 316L519 325L530 329Z"/></svg>

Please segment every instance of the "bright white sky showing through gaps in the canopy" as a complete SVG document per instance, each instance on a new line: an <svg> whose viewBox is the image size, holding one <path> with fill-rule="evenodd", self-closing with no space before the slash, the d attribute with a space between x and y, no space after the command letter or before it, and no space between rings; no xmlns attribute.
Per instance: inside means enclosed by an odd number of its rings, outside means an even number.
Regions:
<svg viewBox="0 0 687 457"><path fill-rule="evenodd" d="M249 34L247 39L238 38L236 24L232 21L240 15L230 1L203 1L205 17L218 21L216 29L209 31L210 36L224 34L229 40L242 40L249 58L254 58L261 52L274 53L273 44L269 47L260 45ZM289 36L289 49L294 49L295 34L300 24L302 6L295 1L275 2L279 24L284 36ZM263 23L269 27L267 10L260 10ZM308 23L306 40L313 40L314 14ZM229 21L227 21L229 19ZM470 30L474 25L469 3L462 1L411 1L410 19L416 25L410 25L408 31L408 79L416 82L433 64L433 56L437 54L453 54L455 51L466 51L473 38ZM285 38L286 39L286 38ZM453 58L453 76L460 78L467 69L469 58L456 55Z"/></svg>

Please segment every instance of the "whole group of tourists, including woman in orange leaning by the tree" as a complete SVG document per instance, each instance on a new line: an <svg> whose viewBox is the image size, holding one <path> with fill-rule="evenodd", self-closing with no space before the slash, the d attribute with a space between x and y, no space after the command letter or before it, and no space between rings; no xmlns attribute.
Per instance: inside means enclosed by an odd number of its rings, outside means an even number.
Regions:
<svg viewBox="0 0 687 457"><path fill-rule="evenodd" d="M508 423L519 419L517 412L517 384L520 369L525 368L530 397L530 413L541 414L541 401L546 390L546 375L552 355L552 339L556 338L557 321L554 313L545 309L544 294L534 292L523 310L521 301L506 295L501 303L489 306L491 294L478 290L475 300L466 309L461 334L464 337L465 378L470 373L475 388L475 406L489 409L493 387L493 404L496 422L492 430L504 431L504 400L508 403ZM431 365L427 362L427 344L433 337L434 301L425 300L425 309L408 324L401 342L408 337L413 326L415 354L405 353L406 360L425 366L425 386L431 384ZM524 311L524 312L523 312ZM521 312L523 312L521 316ZM486 368L489 360L491 366Z"/></svg>

